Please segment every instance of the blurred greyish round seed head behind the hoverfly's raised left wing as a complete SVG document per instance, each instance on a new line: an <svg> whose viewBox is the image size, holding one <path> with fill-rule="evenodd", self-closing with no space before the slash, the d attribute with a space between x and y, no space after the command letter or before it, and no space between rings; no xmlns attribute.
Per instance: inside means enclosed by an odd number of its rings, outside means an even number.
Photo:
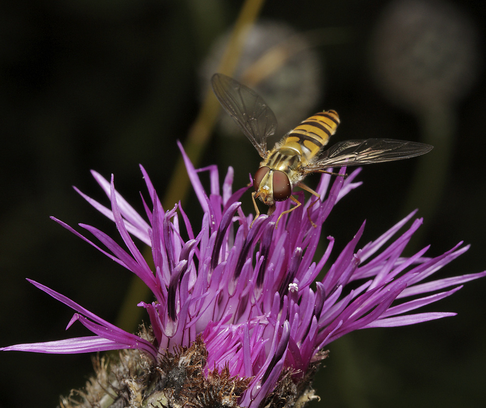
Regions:
<svg viewBox="0 0 486 408"><path fill-rule="evenodd" d="M263 21L245 33L245 46L232 77L260 94L278 119L279 136L295 127L317 107L323 92L322 57L310 36L282 22ZM202 92L217 72L230 33L220 36L200 69ZM232 119L222 115L225 135L241 137ZM241 138L244 140L244 138Z"/></svg>

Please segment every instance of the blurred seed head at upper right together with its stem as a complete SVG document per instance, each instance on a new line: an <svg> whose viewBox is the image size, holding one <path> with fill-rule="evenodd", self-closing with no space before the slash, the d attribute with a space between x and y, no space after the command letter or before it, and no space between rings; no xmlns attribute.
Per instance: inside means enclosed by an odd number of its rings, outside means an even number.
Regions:
<svg viewBox="0 0 486 408"><path fill-rule="evenodd" d="M429 219L436 213L452 168L456 105L478 76L476 36L473 22L461 9L428 0L390 3L372 34L377 87L417 117L420 141L434 146L420 159L402 211L420 207Z"/></svg>

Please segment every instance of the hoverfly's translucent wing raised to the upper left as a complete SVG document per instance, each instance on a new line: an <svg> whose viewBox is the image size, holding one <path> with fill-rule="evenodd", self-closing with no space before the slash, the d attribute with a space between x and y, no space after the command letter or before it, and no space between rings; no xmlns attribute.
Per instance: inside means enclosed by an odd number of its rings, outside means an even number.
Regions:
<svg viewBox="0 0 486 408"><path fill-rule="evenodd" d="M277 119L265 101L253 90L223 74L211 78L213 91L224 110L265 157L267 137L275 133Z"/></svg>

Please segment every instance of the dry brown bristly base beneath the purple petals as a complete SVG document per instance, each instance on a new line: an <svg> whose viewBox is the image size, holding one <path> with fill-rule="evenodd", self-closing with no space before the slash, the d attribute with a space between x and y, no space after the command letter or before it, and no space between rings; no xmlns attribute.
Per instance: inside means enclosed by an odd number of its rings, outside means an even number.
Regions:
<svg viewBox="0 0 486 408"><path fill-rule="evenodd" d="M145 330L142 337L151 336ZM322 358L327 356L323 353ZM208 351L199 336L189 348L179 347L175 353L167 351L154 363L138 350L121 350L111 361L93 359L96 376L84 391L73 390L69 397L61 397L61 408L94 408L97 406L142 408L239 408L237 400L248 388L251 378L231 377L228 366L207 374ZM318 399L311 387L314 368L306 373L305 381L295 384L292 372L280 374L277 386L267 397L264 406L300 408Z"/></svg>

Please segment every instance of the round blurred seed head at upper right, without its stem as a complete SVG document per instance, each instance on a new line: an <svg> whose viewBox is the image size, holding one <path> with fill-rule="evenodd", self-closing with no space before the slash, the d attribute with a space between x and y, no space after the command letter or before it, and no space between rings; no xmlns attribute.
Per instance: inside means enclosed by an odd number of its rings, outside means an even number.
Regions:
<svg viewBox="0 0 486 408"><path fill-rule="evenodd" d="M476 32L449 3L392 2L372 42L377 86L413 112L457 102L476 80Z"/></svg>

